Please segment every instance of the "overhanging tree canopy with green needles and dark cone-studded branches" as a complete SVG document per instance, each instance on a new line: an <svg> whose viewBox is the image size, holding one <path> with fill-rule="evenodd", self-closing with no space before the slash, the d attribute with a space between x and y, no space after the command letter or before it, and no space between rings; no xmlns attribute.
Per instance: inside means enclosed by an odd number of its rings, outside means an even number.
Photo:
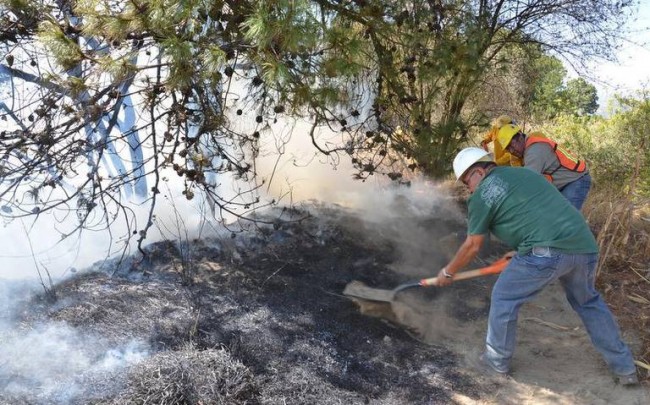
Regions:
<svg viewBox="0 0 650 405"><path fill-rule="evenodd" d="M260 203L260 139L286 117L310 122L315 148L349 156L359 178L445 174L483 119L472 97L509 69L509 48L609 58L632 5L0 0L3 215L64 207L86 226L98 206L112 221L131 194L153 215L164 170L187 198L199 188L215 210L243 215ZM341 143L321 142L321 128ZM248 188L225 192L227 176Z"/></svg>

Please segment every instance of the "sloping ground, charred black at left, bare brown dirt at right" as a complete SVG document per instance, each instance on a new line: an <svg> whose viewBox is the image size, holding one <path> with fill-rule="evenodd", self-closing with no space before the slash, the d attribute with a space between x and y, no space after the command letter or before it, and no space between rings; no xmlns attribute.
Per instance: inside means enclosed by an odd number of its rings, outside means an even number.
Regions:
<svg viewBox="0 0 650 405"><path fill-rule="evenodd" d="M650 403L647 381L614 381L557 286L524 307L505 379L470 361L494 276L408 290L392 305L342 295L353 280L388 289L432 276L462 240L458 217L401 212L372 221L312 204L233 238L98 263L56 297L16 295L0 403ZM473 265L503 251L493 243Z"/></svg>

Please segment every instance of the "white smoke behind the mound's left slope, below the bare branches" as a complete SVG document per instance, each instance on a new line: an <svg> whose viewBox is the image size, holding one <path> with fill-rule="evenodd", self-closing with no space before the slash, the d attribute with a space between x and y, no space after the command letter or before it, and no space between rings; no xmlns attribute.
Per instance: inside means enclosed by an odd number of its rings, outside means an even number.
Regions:
<svg viewBox="0 0 650 405"><path fill-rule="evenodd" d="M175 190L174 190L175 189ZM156 209L155 223L168 224L166 232L152 227L146 243L165 238L196 237L200 224L205 220L205 209L195 201L187 201L180 187L164 191ZM173 204L170 202L173 201ZM110 226L95 230L75 232L66 238L70 229L77 226L76 217L60 221L54 213L42 213L36 220L16 219L0 225L0 280L38 279L39 273L46 283L49 277L54 283L96 261L121 254L123 249L133 252L138 235L149 218L148 205L125 204L133 212L134 221L118 220ZM182 224L176 219L182 218ZM180 228L179 228L180 227ZM183 232L183 235L173 233ZM130 246L126 245L130 237Z"/></svg>

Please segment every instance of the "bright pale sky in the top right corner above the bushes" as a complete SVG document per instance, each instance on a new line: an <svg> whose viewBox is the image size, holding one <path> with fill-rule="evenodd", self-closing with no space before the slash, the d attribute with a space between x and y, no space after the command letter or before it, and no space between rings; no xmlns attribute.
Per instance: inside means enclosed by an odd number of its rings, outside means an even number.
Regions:
<svg viewBox="0 0 650 405"><path fill-rule="evenodd" d="M604 113L615 94L628 95L650 88L650 0L640 0L638 12L629 22L630 34L616 54L617 62L594 63L593 73L599 79L599 112Z"/></svg>

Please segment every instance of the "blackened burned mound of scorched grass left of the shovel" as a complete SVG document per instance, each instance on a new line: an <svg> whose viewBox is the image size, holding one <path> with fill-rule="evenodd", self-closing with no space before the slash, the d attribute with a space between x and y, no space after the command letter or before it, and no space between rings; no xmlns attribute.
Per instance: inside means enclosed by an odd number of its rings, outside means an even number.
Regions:
<svg viewBox="0 0 650 405"><path fill-rule="evenodd" d="M341 295L355 279L405 281L390 268L401 259L394 230L340 207L309 211L232 239L156 243L145 262L98 264L57 286L56 301L26 302L14 321L63 322L105 348L149 348L124 372L78 378L114 386L77 390L66 403L449 403L454 390L482 391L448 349L361 315ZM429 221L414 225L460 229ZM5 403L61 402L2 377Z"/></svg>

